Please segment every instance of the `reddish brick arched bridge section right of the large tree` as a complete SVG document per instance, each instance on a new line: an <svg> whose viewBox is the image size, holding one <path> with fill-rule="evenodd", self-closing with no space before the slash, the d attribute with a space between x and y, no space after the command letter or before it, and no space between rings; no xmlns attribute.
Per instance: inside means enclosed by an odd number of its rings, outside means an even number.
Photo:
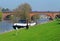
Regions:
<svg viewBox="0 0 60 41"><path fill-rule="evenodd" d="M52 19L54 19L56 17L56 15L59 15L60 12L31 12L30 13L30 16L33 16L33 15L36 15L36 14L39 14L39 15L46 15L47 17L51 17Z"/></svg>

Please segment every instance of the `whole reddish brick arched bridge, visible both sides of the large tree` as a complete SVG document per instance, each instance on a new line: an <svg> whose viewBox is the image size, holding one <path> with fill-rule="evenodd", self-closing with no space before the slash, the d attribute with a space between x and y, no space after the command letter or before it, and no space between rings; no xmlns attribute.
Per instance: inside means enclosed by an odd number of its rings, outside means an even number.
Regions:
<svg viewBox="0 0 60 41"><path fill-rule="evenodd" d="M8 16L13 15L13 12L3 12L3 20L6 19ZM30 12L30 18L36 14L39 15L46 15L47 17L51 17L52 19L54 19L56 17L56 15L59 15L60 12L48 12L48 11L35 11L35 12Z"/></svg>

